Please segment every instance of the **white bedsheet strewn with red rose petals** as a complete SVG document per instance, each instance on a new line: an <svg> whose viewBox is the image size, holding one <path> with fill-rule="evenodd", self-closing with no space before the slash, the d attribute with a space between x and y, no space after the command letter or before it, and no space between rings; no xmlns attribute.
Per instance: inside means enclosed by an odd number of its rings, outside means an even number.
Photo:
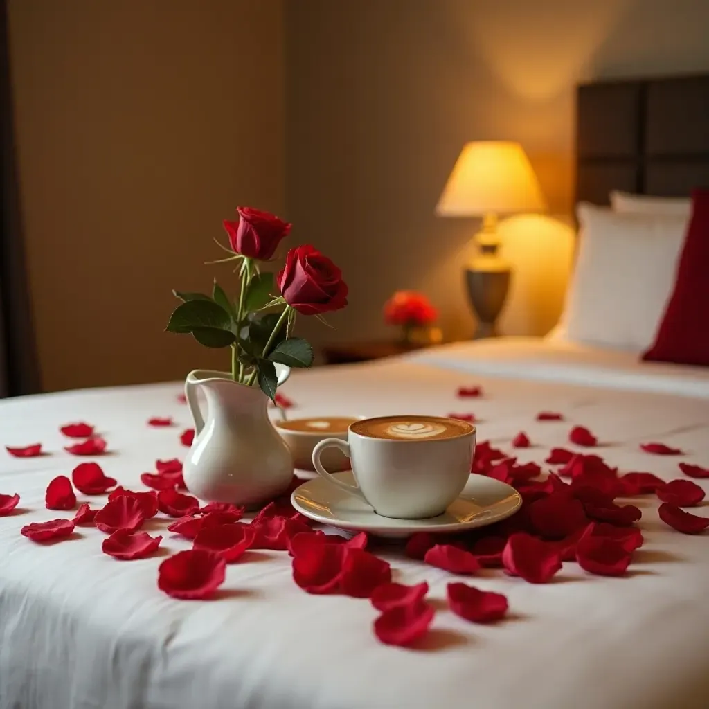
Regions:
<svg viewBox="0 0 709 709"><path fill-rule="evenodd" d="M518 354L510 359L521 364ZM598 452L624 471L679 476L678 459L639 449L647 440L681 447L681 460L709 465L709 405L701 398L518 375L473 376L397 359L296 374L284 392L298 404L292 415L472 411L481 419L479 440L510 452L510 438L525 430L535 447L518 451L523 461L541 462L549 447L566 446L573 422L591 428L604 442ZM482 384L486 396L458 399L462 384ZM385 547L396 580L426 580L437 599L433 630L416 650L379 644L368 601L303 592L285 552L258 552L230 565L218 598L188 602L157 589L164 556L118 562L101 554L104 535L93 527L77 527L76 539L54 545L21 537L30 521L69 514L43 503L51 477L80 462L62 451L59 425L95 423L113 451L100 460L106 474L138 487L155 459L184 456L178 435L191 422L178 392L178 384L162 384L0 403L0 443L41 441L51 452L14 459L0 450L0 492L20 493L26 510L0 518L1 709L709 705L708 535L665 527L649 498L639 498L646 544L627 578L588 576L564 564L543 586L501 571L464 579L508 596L509 620L490 627L445 609L445 586L458 577ZM561 411L568 421L537 423L541 409ZM148 428L154 415L174 415L179 428ZM155 520L147 529L164 526ZM167 532L161 553L186 548L189 542Z"/></svg>

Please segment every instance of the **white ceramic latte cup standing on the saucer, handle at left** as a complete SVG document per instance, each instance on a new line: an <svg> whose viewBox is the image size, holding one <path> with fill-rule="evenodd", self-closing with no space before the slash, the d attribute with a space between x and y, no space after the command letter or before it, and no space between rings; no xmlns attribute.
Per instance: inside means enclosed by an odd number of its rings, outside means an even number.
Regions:
<svg viewBox="0 0 709 709"><path fill-rule="evenodd" d="M451 437L377 437L352 430L347 441L326 438L313 449L313 467L318 474L345 492L366 502L384 517L423 519L445 512L463 491L470 476L475 451L475 427L437 416L382 416L353 424L386 423L396 418L411 422L454 423L462 432ZM339 448L352 463L357 486L333 477L320 456L328 447Z"/></svg>

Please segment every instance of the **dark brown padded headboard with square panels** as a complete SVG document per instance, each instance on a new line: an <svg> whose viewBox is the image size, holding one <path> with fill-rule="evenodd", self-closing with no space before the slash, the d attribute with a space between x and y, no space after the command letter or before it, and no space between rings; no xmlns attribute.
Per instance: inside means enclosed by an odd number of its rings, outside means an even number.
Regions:
<svg viewBox="0 0 709 709"><path fill-rule="evenodd" d="M693 187L709 187L709 74L578 87L576 201Z"/></svg>

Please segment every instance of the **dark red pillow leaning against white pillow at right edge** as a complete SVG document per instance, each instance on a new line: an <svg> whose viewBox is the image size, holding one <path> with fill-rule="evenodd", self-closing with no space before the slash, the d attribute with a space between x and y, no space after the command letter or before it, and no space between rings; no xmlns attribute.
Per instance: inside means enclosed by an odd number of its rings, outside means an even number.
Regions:
<svg viewBox="0 0 709 709"><path fill-rule="evenodd" d="M674 291L642 359L709 366L709 189L692 192Z"/></svg>

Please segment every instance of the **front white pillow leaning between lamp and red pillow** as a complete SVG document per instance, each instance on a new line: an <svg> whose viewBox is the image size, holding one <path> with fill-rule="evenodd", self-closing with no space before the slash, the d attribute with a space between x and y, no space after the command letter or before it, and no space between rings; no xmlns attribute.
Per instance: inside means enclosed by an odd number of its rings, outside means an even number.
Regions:
<svg viewBox="0 0 709 709"><path fill-rule="evenodd" d="M581 203L564 314L549 339L644 352L664 314L686 216L624 214Z"/></svg>

